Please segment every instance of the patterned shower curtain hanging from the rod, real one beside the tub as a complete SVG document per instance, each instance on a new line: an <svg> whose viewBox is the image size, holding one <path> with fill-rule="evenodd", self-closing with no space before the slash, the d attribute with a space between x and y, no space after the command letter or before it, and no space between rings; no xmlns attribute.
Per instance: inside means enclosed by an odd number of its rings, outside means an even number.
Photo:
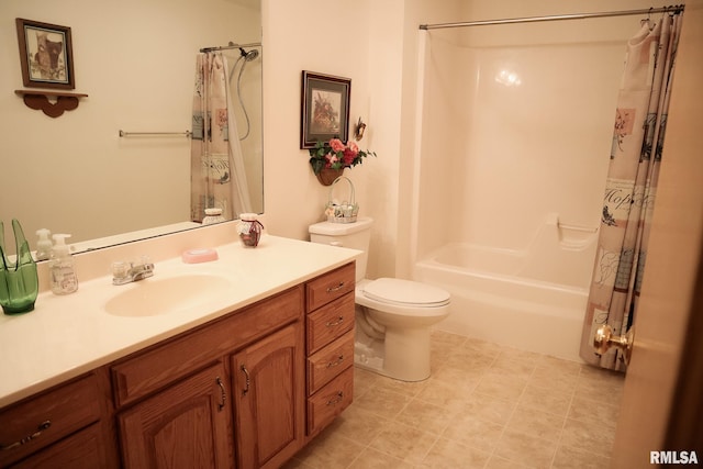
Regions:
<svg viewBox="0 0 703 469"><path fill-rule="evenodd" d="M635 323L680 23L680 14L666 13L654 26L643 21L627 43L580 348L602 368L625 370L620 350L601 356L592 342L603 324L624 335Z"/></svg>

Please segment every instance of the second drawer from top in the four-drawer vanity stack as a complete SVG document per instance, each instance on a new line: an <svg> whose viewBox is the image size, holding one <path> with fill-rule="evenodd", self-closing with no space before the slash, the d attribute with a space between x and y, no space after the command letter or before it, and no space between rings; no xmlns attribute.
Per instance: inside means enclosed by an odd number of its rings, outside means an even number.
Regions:
<svg viewBox="0 0 703 469"><path fill-rule="evenodd" d="M308 355L354 328L354 291L308 315Z"/></svg>

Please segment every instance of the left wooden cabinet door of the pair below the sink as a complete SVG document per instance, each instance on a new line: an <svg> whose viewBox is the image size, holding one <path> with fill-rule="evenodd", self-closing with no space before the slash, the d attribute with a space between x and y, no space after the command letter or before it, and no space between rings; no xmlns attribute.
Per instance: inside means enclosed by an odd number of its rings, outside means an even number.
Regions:
<svg viewBox="0 0 703 469"><path fill-rule="evenodd" d="M222 364L118 415L126 468L233 468L232 409Z"/></svg>

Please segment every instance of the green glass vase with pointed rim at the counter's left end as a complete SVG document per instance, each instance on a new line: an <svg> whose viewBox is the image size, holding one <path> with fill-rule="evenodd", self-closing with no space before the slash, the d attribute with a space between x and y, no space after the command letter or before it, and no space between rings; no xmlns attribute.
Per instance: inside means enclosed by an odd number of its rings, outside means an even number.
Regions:
<svg viewBox="0 0 703 469"><path fill-rule="evenodd" d="M30 244L16 220L12 220L12 231L16 246L14 259L7 254L4 226L0 221L0 305L4 314L21 314L34 310L40 280Z"/></svg>

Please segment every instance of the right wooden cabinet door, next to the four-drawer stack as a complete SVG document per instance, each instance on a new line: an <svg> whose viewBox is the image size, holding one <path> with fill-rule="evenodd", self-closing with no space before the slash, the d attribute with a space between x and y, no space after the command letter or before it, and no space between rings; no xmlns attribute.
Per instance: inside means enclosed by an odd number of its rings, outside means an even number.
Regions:
<svg viewBox="0 0 703 469"><path fill-rule="evenodd" d="M232 358L239 468L277 468L303 445L305 356L300 323Z"/></svg>

